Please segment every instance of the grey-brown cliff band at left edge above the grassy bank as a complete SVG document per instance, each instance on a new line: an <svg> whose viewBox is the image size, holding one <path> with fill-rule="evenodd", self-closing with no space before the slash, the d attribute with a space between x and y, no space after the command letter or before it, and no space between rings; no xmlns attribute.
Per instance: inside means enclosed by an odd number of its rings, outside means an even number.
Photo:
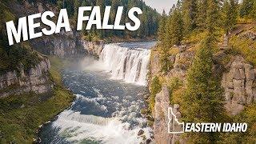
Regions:
<svg viewBox="0 0 256 144"><path fill-rule="evenodd" d="M11 94L22 94L33 91L46 93L54 86L49 78L50 62L44 58L38 65L28 71L23 68L0 75L0 98Z"/></svg>

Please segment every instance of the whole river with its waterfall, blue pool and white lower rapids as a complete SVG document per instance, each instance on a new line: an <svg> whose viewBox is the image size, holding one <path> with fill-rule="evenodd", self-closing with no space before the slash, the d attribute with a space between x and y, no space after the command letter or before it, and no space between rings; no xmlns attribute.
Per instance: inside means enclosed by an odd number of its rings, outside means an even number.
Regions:
<svg viewBox="0 0 256 144"><path fill-rule="evenodd" d="M42 143L139 143L144 130L146 73L155 42L108 44L98 61L84 58L62 72L76 99L70 109L42 127Z"/></svg>

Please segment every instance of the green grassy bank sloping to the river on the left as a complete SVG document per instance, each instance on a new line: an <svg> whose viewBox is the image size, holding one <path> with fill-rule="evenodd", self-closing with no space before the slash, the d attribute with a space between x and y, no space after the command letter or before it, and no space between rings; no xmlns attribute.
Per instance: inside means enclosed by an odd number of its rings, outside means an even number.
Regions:
<svg viewBox="0 0 256 144"><path fill-rule="evenodd" d="M50 58L50 62L50 78L55 83L52 92L0 98L0 143L33 142L38 126L70 106L74 96L62 85L60 74L65 64L58 58Z"/></svg>

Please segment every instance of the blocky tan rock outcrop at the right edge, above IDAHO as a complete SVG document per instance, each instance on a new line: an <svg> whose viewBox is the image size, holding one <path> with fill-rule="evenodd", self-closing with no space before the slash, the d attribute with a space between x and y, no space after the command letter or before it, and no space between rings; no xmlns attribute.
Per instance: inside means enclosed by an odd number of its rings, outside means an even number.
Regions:
<svg viewBox="0 0 256 144"><path fill-rule="evenodd" d="M239 114L246 104L256 101L256 69L242 56L236 56L222 76L225 90L226 110L231 115Z"/></svg>

